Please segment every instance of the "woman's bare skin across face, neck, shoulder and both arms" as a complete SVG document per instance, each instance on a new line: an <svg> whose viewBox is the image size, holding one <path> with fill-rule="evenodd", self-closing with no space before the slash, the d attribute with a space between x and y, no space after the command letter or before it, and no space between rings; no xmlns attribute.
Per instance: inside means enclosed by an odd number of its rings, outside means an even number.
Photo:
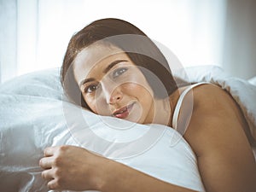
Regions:
<svg viewBox="0 0 256 192"><path fill-rule="evenodd" d="M84 79L94 78L94 81L80 86L82 92L84 88L88 90L88 85L94 90L92 88L96 86L91 85L95 82L102 83L102 87L98 87L93 95L88 91L83 92L84 100L90 103L92 111L113 115L119 108L135 102L129 115L122 117L138 123L156 122L172 126L170 119L173 108L166 108L166 102L169 103L168 106L176 106L179 91L182 92L184 88L177 90L167 99L155 99L142 73L131 61L127 61L125 54L112 55L119 52L119 49L109 48L103 51L108 56L102 56L103 59L95 61L95 58L99 58L99 55L96 55L98 49L99 47L84 49L83 54L78 55L74 62L78 84L81 85ZM117 60L125 62L119 62L108 73L103 73L109 63ZM97 65L85 66L85 62ZM119 67L131 67L125 73L129 74L131 71L136 74L136 78L130 78L128 83L115 81L116 86L111 87L108 81L109 77L113 76L108 74L113 74ZM125 76L125 73L121 73L121 76ZM183 137L194 149L207 192L256 191L256 163L245 134L247 122L240 108L227 92L212 84L195 87L193 96L193 113ZM184 99L189 97L185 96ZM98 102L101 103L100 107L96 104ZM188 107L182 105L179 122L187 118L187 110ZM133 113L139 113L139 118L135 118ZM161 118L166 117L166 114L169 117L167 120ZM96 189L106 192L193 191L165 183L84 148L73 146L45 148L44 158L40 160L39 165L44 168L42 177L49 181L49 189Z"/></svg>

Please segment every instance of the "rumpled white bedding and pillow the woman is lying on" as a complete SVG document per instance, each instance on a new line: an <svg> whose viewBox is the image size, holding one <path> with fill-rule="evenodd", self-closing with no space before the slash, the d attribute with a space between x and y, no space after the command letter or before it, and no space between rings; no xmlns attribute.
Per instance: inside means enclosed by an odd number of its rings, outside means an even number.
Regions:
<svg viewBox="0 0 256 192"><path fill-rule="evenodd" d="M63 95L59 73L59 68L51 68L1 84L0 191L48 191L38 160L44 148L62 144L84 147L166 182L205 191L195 154L177 131L79 108ZM230 77L212 66L188 67L185 73L174 74L228 90L255 136L256 79Z"/></svg>

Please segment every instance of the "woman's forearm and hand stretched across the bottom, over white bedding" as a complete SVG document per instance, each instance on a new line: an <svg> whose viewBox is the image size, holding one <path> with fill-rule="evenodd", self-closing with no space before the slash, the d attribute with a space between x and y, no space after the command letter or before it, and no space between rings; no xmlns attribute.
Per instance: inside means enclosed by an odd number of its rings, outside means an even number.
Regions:
<svg viewBox="0 0 256 192"><path fill-rule="evenodd" d="M51 147L44 150L39 165L49 189L100 190L104 192L168 191L193 192L138 172L113 160L74 146Z"/></svg>

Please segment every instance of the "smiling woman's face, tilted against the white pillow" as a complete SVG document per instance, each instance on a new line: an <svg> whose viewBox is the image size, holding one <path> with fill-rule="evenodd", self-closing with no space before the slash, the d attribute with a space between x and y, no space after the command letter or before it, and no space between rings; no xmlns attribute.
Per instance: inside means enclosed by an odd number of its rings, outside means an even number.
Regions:
<svg viewBox="0 0 256 192"><path fill-rule="evenodd" d="M94 113L147 124L154 119L154 93L121 49L91 45L73 63L84 101Z"/></svg>

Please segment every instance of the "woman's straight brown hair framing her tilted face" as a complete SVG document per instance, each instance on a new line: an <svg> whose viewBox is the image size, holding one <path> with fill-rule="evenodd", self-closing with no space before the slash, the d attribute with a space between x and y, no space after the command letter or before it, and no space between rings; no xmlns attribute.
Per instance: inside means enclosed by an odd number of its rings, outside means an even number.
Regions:
<svg viewBox="0 0 256 192"><path fill-rule="evenodd" d="M73 35L67 46L61 67L61 84L67 97L76 104L89 109L74 79L73 67L71 66L82 49L101 40L125 51L131 61L141 69L154 91L155 97L164 98L177 90L177 84L172 77L166 57L154 42L137 26L125 20L108 18L96 20L85 26ZM70 67L71 69L69 69ZM147 70L143 70L143 68ZM154 75L148 75L146 73L148 70ZM160 84L164 85L164 90L159 89Z"/></svg>

